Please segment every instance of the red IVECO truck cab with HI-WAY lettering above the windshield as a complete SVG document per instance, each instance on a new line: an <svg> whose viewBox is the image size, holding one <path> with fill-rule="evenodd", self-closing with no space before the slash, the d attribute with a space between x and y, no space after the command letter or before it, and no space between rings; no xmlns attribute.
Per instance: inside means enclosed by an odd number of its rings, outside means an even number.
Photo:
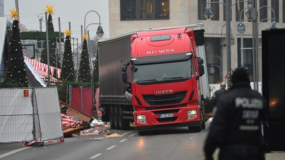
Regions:
<svg viewBox="0 0 285 160"><path fill-rule="evenodd" d="M139 134L172 126L205 129L202 64L192 29L137 31L131 36L131 57L122 67L122 77L127 82L130 75L126 97L132 102Z"/></svg>

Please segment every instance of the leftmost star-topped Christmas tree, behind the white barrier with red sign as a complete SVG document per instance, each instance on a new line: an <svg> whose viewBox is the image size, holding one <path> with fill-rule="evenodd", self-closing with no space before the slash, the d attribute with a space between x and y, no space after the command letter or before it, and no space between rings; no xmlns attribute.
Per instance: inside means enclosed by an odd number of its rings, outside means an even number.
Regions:
<svg viewBox="0 0 285 160"><path fill-rule="evenodd" d="M9 55L6 61L7 68L5 72L5 81L11 83L23 83L25 86L28 86L27 77L26 77L26 70L25 70L25 62L23 57L22 51L22 44L21 44L21 37L20 37L20 29L18 25L18 10L11 11L13 20L13 27L12 27L12 34L11 40L9 43Z"/></svg>

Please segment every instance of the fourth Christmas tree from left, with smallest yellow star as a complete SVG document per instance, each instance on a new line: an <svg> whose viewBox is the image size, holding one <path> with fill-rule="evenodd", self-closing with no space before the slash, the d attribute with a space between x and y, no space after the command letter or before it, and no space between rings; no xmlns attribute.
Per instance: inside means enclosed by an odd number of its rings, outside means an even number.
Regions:
<svg viewBox="0 0 285 160"><path fill-rule="evenodd" d="M87 49L87 41L88 38L87 34L82 36L83 38L83 45L82 45L82 52L81 52L81 60L79 65L79 72L78 72L78 81L81 82L92 82L92 75L90 69L90 62L89 62L89 53Z"/></svg>

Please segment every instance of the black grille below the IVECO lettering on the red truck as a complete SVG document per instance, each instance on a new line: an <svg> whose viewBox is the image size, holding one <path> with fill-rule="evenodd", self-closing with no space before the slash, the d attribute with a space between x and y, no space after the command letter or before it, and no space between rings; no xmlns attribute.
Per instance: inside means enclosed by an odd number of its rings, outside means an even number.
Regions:
<svg viewBox="0 0 285 160"><path fill-rule="evenodd" d="M147 104L156 106L181 103L184 100L186 93L187 91L180 91L176 92L175 94L168 95L155 96L153 94L146 94L142 96Z"/></svg>

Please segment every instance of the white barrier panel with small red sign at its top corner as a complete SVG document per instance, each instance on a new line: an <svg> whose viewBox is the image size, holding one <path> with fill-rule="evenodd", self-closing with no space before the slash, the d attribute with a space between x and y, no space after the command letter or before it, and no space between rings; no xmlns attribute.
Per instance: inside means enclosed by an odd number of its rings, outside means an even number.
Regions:
<svg viewBox="0 0 285 160"><path fill-rule="evenodd" d="M0 143L33 140L32 88L0 89Z"/></svg>

